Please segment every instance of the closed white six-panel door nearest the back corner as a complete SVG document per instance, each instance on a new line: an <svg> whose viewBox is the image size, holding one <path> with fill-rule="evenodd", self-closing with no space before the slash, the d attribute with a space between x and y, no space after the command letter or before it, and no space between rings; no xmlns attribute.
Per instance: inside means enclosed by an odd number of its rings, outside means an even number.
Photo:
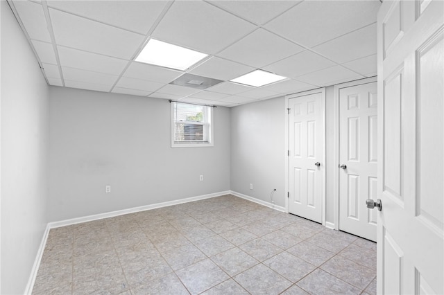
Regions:
<svg viewBox="0 0 444 295"><path fill-rule="evenodd" d="M322 222L324 89L289 99L289 213Z"/></svg>

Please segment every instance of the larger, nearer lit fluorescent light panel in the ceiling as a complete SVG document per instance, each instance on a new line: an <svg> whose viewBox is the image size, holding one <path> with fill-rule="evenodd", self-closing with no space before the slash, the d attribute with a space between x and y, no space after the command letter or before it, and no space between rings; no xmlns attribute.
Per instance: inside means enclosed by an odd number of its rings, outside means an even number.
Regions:
<svg viewBox="0 0 444 295"><path fill-rule="evenodd" d="M150 39L135 61L185 71L207 56L205 53Z"/></svg>

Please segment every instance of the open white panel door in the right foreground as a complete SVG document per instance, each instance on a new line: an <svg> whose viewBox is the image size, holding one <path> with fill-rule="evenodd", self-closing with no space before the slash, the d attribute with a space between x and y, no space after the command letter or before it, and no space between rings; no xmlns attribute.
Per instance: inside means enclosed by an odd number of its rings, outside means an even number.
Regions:
<svg viewBox="0 0 444 295"><path fill-rule="evenodd" d="M444 1L384 1L377 27L377 294L444 294Z"/></svg>

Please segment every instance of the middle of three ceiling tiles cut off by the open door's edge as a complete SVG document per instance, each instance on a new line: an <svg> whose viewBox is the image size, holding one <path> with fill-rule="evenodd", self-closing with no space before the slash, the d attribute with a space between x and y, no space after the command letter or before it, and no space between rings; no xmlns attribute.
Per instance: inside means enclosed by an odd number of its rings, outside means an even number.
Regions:
<svg viewBox="0 0 444 295"><path fill-rule="evenodd" d="M361 57L375 54L377 51L376 24L366 26L332 41L313 48L325 57L342 64Z"/></svg>

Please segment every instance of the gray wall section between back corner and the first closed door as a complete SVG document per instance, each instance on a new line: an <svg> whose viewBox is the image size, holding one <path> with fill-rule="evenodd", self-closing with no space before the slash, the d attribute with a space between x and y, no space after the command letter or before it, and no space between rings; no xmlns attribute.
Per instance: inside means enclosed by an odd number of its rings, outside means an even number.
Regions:
<svg viewBox="0 0 444 295"><path fill-rule="evenodd" d="M231 190L285 206L285 100L231 109ZM253 184L250 190L249 184Z"/></svg>

